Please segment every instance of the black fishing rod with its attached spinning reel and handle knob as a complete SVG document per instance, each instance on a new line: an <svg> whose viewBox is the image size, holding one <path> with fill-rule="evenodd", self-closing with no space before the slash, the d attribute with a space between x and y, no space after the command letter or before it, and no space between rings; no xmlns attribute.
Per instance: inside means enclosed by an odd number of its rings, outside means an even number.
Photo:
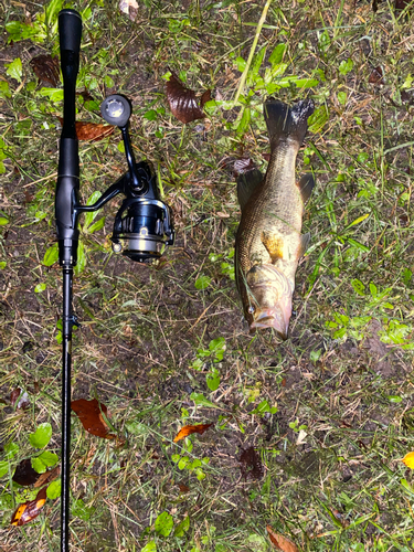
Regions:
<svg viewBox="0 0 414 552"><path fill-rule="evenodd" d="M125 199L114 221L110 238L113 251L139 263L157 262L166 246L173 244L174 232L170 210L161 201L152 166L147 161L137 163L135 160L128 131L131 105L119 94L108 96L100 105L100 113L109 125L117 126L121 131L128 171L93 205L79 203L76 78L82 18L77 11L65 9L59 13L59 35L64 96L55 194L59 263L63 273L61 552L68 552L72 330L78 326L73 312L73 269L77 263L78 216L84 212L97 211L117 194L124 194Z"/></svg>

